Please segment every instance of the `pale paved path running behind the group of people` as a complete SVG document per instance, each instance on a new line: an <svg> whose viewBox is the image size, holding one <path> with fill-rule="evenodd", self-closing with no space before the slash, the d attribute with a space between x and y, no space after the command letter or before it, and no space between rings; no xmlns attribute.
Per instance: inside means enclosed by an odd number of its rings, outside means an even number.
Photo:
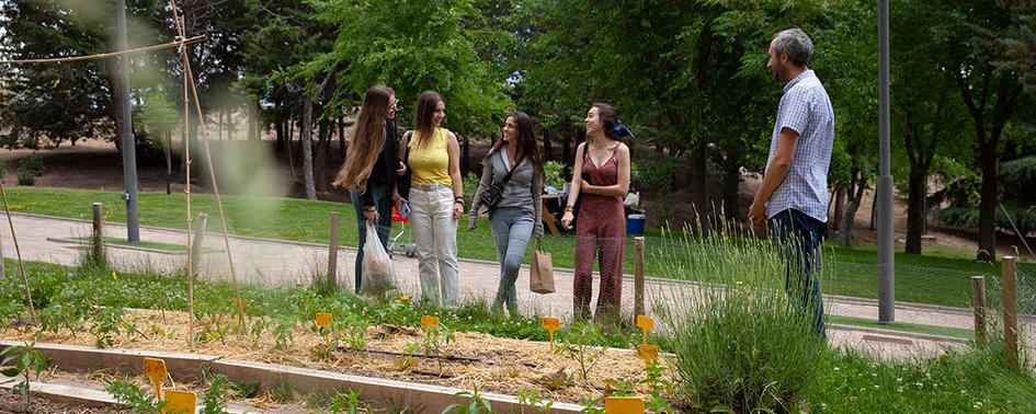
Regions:
<svg viewBox="0 0 1036 414"><path fill-rule="evenodd" d="M88 221L43 217L35 215L12 215L14 229L19 234L19 244L22 256L29 261L43 261L75 265L81 254L81 246L75 243L57 242L55 239L88 237L91 225ZM349 223L343 223L349 226ZM105 225L105 235L125 238L126 228L123 225ZM14 257L14 248L7 227L0 229L3 254ZM185 244L184 231L141 228L140 237L145 241ZM200 274L212 280L229 279L229 265L221 233L208 233L204 242L201 258ZM296 284L308 285L315 274L327 271L328 248L314 243L263 240L253 238L230 238L230 251L234 255L235 271L243 283L261 284L264 286L291 286ZM184 254L166 252L145 252L113 246L107 250L110 260L119 268L140 269L155 268L164 272L182 268L185 265ZM340 249L338 252L338 275L349 288L352 287L355 250ZM397 284L403 291L420 292L418 281L418 263L415 258L396 255L394 264L397 271ZM491 300L497 290L499 265L497 263L462 260L460 286L463 299L486 298ZM555 271L558 291L553 295L537 295L530 291L528 271L523 269L519 280L519 301L524 311L569 317L572 308L571 271ZM633 312L633 277L626 276L623 289L624 311ZM682 281L649 278L646 284L646 302L650 311L652 301L665 300L674 291L693 290L693 285ZM865 319L877 319L877 302L868 299L826 297L829 314L849 315ZM968 309L930 307L920 304L897 304L896 319L899 322L911 322L930 325L954 326L961 329L972 327L972 318ZM1032 327L1036 321L1027 321L1028 344L1036 344L1036 330ZM940 338L924 337L924 335L890 334L887 332L868 332L863 329L834 329L830 333L831 342L838 345L847 345L855 348L869 348L890 357L910 357L917 353L931 353L942 349L944 345L960 346L959 342L948 342ZM909 344L908 344L909 343Z"/></svg>

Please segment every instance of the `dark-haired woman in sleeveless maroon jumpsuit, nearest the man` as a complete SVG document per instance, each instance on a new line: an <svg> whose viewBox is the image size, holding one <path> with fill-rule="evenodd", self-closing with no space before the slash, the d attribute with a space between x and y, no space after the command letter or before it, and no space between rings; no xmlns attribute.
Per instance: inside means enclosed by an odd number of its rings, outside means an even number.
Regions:
<svg viewBox="0 0 1036 414"><path fill-rule="evenodd" d="M587 142L576 150L576 168L561 225L572 228L576 200L576 318L589 319L593 292L593 260L599 257L601 289L595 320L618 321L626 257L626 218L623 197L629 189L629 148L622 142L629 130L618 123L615 108L595 103L587 114Z"/></svg>

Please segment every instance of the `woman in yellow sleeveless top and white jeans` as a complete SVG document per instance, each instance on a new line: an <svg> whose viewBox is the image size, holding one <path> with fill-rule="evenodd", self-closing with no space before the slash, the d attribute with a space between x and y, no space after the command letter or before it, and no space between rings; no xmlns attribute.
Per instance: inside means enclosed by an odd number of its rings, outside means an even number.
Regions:
<svg viewBox="0 0 1036 414"><path fill-rule="evenodd" d="M413 173L408 203L421 299L456 309L460 307L457 219L464 212L460 145L456 135L441 127L446 102L439 93L425 91L415 108L414 131L400 142L400 158L408 160Z"/></svg>

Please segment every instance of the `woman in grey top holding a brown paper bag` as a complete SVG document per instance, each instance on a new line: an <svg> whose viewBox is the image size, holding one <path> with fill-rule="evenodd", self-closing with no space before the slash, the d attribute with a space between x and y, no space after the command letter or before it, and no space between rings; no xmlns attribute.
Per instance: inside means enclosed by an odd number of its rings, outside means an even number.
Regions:
<svg viewBox="0 0 1036 414"><path fill-rule="evenodd" d="M500 257L500 287L492 309L502 314L506 306L508 312L514 317L519 314L514 281L525 249L532 237L543 239L544 172L533 119L523 112L509 115L503 123L502 138L489 150L483 164L482 177L468 214L468 231L475 230L480 212L489 212ZM501 191L499 197L494 197L496 204L489 206L483 203L482 195L492 192L494 184Z"/></svg>

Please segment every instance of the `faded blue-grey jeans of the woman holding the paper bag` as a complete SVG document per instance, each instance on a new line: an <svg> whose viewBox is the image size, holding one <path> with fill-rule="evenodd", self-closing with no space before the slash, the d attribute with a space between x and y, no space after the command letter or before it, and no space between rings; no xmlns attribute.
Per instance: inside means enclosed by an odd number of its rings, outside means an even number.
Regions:
<svg viewBox="0 0 1036 414"><path fill-rule="evenodd" d="M525 257L528 239L533 235L533 227L536 226L535 218L521 208L501 207L489 214L489 223L497 241L497 256L500 258L500 286L497 288L492 309L503 311L503 306L506 304L508 312L514 317L519 314L514 283L522 268L522 258Z"/></svg>

